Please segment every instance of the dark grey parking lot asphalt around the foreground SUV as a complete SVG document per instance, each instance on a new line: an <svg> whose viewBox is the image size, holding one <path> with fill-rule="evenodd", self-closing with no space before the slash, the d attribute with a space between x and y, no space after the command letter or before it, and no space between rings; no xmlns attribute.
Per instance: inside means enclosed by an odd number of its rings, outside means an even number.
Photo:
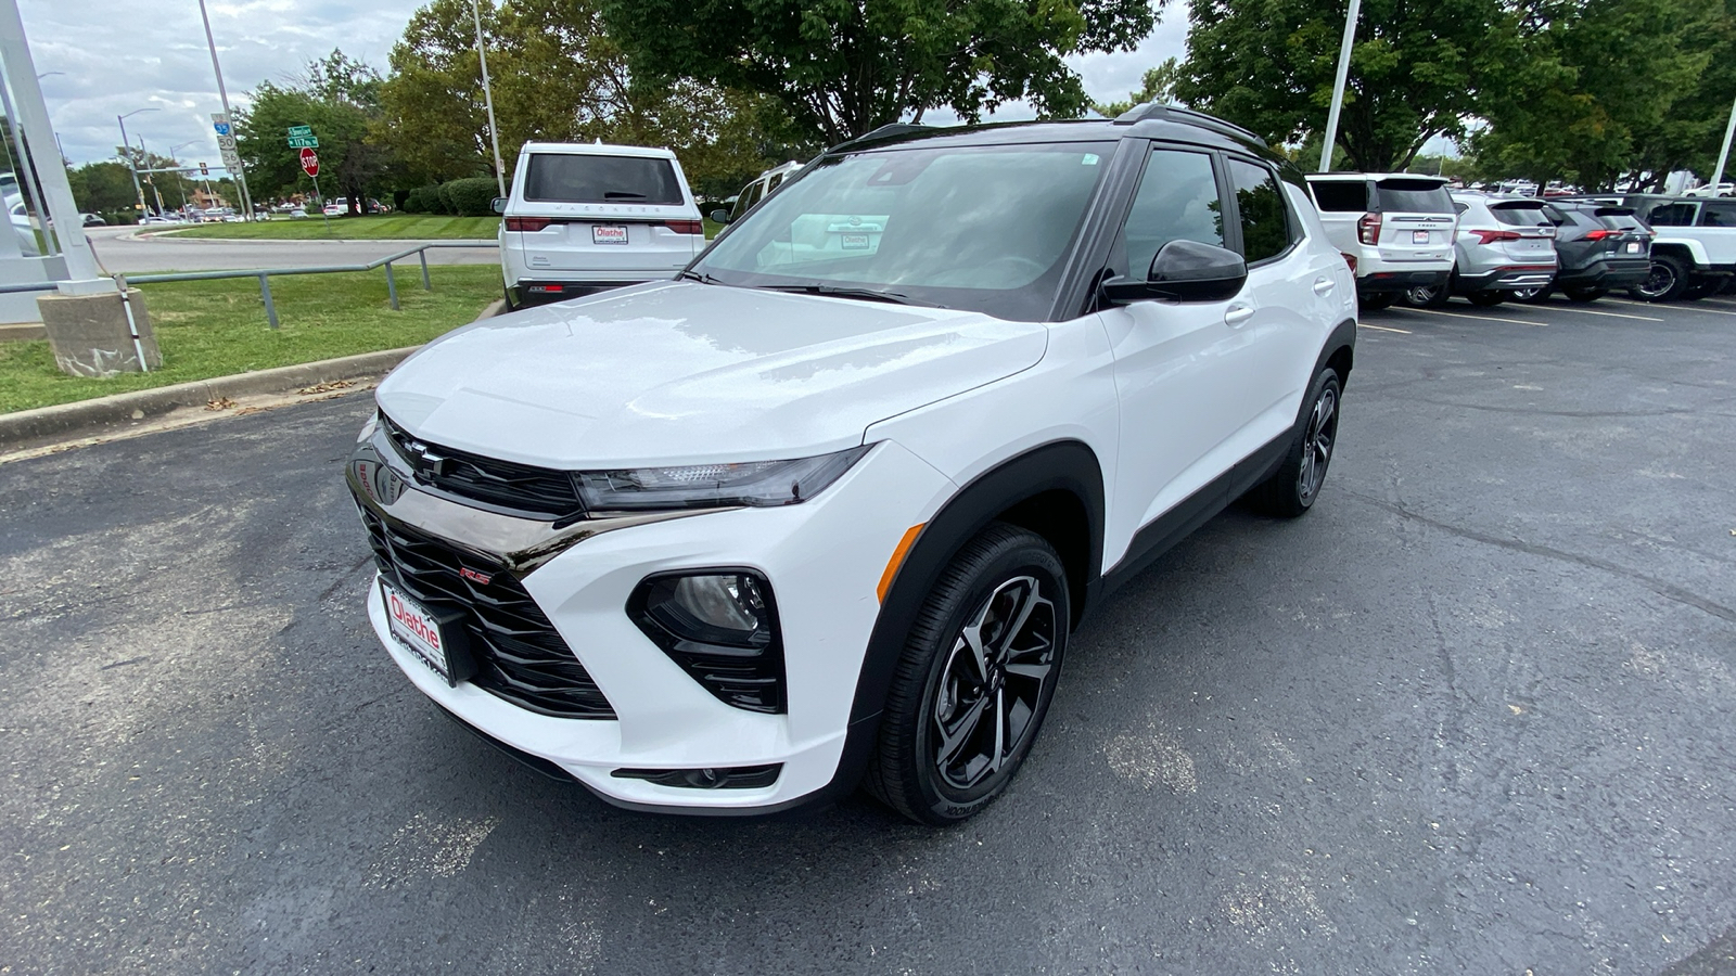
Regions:
<svg viewBox="0 0 1736 976"><path fill-rule="evenodd" d="M1364 323L1316 511L1120 590L951 830L455 728L363 398L0 465L0 973L1736 973L1736 302Z"/></svg>

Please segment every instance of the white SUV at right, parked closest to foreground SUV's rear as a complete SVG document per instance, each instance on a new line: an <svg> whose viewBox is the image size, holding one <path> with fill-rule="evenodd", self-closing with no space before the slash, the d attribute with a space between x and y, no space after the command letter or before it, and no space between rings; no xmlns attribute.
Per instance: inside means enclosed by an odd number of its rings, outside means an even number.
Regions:
<svg viewBox="0 0 1736 976"><path fill-rule="evenodd" d="M1356 269L1364 309L1406 288L1437 288L1453 271L1457 212L1446 179L1418 174L1309 174L1326 234Z"/></svg>

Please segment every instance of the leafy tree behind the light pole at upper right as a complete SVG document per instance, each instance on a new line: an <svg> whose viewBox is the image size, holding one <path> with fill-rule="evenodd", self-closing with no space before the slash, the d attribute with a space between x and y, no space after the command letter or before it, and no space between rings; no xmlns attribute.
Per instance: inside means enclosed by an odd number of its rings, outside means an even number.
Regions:
<svg viewBox="0 0 1736 976"><path fill-rule="evenodd" d="M1300 142L1326 123L1344 10L1344 0L1194 0L1175 96L1269 142ZM1519 54L1503 0L1364 0L1338 146L1356 168L1404 168L1429 139L1463 137Z"/></svg>

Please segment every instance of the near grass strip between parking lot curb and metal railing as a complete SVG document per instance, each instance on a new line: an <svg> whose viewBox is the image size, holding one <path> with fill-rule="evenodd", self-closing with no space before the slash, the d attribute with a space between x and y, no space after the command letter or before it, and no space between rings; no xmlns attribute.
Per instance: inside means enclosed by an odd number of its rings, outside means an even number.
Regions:
<svg viewBox="0 0 1736 976"><path fill-rule="evenodd" d="M248 370L292 366L356 353L418 346L476 320L500 297L491 264L437 264L434 290L418 267L398 269L398 300L385 295L385 271L297 274L271 280L281 328L266 325L253 278L142 285L163 368L92 380L54 365L47 340L0 342L0 413L203 380Z"/></svg>

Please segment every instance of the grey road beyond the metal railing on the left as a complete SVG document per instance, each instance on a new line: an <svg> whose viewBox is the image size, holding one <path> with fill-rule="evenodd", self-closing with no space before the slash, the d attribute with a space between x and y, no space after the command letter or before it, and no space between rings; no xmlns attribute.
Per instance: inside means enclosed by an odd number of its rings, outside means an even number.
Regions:
<svg viewBox="0 0 1736 976"><path fill-rule="evenodd" d="M333 221L340 224L342 221ZM366 264L424 241L253 241L212 238L135 236L139 228L92 228L92 250L111 273L229 271L243 267L306 267L314 264ZM429 264L495 264L491 247L434 248Z"/></svg>

